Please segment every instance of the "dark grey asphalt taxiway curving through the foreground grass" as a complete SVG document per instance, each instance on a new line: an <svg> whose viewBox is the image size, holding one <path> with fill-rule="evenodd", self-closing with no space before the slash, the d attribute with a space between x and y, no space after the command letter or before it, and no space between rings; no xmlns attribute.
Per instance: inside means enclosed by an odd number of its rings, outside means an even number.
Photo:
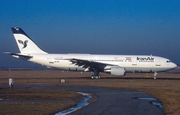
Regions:
<svg viewBox="0 0 180 115"><path fill-rule="evenodd" d="M97 100L94 103L91 103L88 106L71 113L70 115L165 115L162 108L151 104L152 100L136 99L153 98L144 92L84 86L41 85L27 86L27 88L64 89L85 93L94 93L97 96Z"/></svg>

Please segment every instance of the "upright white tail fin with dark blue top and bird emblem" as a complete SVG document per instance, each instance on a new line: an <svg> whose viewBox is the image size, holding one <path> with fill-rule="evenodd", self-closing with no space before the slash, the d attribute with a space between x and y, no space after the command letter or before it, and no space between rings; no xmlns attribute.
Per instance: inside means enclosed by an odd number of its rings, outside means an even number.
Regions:
<svg viewBox="0 0 180 115"><path fill-rule="evenodd" d="M41 50L21 28L12 27L11 29L22 54L47 54Z"/></svg>

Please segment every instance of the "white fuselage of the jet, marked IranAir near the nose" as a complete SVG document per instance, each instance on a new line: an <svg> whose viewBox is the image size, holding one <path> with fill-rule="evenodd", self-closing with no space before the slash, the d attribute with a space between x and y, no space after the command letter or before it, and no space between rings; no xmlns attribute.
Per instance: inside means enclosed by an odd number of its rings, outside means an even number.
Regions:
<svg viewBox="0 0 180 115"><path fill-rule="evenodd" d="M176 64L169 59L151 55L94 55L94 54L31 54L29 61L44 66L74 71L88 71L87 68L73 64L70 59L82 59L89 62L106 64L102 70L112 65L125 68L126 72L161 72L174 69Z"/></svg>

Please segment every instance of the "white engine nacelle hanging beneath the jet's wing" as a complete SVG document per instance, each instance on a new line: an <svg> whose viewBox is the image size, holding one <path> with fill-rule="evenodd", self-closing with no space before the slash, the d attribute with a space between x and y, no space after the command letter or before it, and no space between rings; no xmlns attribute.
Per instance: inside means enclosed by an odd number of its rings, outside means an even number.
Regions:
<svg viewBox="0 0 180 115"><path fill-rule="evenodd" d="M125 69L120 66L111 67L111 74L116 76L124 76L126 73Z"/></svg>

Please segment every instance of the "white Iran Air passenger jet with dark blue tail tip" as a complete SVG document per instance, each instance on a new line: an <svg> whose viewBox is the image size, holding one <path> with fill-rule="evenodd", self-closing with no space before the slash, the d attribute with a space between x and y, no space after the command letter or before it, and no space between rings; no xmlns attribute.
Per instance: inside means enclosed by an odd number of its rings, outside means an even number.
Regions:
<svg viewBox="0 0 180 115"><path fill-rule="evenodd" d="M43 66L69 71L94 72L91 78L101 78L100 72L114 76L126 73L164 72L177 67L167 58L153 55L95 55L95 54L49 54L41 50L35 42L19 27L12 27L20 53L4 52Z"/></svg>

